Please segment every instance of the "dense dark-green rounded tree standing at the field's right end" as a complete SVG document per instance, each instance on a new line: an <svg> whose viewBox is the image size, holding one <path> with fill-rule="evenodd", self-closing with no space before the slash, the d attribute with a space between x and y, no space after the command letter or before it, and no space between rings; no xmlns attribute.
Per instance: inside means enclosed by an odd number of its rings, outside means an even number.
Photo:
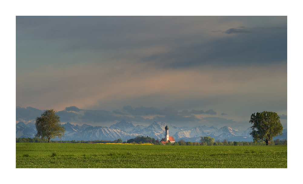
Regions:
<svg viewBox="0 0 303 184"><path fill-rule="evenodd" d="M280 117L275 112L257 112L250 116L251 136L254 141L263 142L270 145L273 137L282 135L283 126Z"/></svg>

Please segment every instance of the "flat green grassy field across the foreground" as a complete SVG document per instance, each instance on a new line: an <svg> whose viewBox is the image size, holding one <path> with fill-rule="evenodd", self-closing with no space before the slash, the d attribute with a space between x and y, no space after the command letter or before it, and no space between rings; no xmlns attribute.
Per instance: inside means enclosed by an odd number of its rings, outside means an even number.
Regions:
<svg viewBox="0 0 303 184"><path fill-rule="evenodd" d="M287 145L16 143L16 168L287 168Z"/></svg>

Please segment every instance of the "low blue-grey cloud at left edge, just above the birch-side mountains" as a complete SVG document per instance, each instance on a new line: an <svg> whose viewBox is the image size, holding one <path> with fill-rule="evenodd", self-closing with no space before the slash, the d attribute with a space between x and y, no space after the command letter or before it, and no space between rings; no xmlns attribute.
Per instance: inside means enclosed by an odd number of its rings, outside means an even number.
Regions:
<svg viewBox="0 0 303 184"><path fill-rule="evenodd" d="M44 111L33 108L33 107L16 107L16 120L18 121L31 121L35 120L38 116L41 116L41 114Z"/></svg>

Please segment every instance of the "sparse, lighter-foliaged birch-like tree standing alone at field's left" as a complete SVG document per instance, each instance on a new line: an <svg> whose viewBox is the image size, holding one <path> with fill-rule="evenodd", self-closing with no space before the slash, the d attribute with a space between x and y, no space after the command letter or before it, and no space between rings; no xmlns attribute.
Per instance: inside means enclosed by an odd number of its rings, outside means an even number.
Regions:
<svg viewBox="0 0 303 184"><path fill-rule="evenodd" d="M35 137L41 137L42 139L62 138L65 133L65 127L61 126L60 117L56 115L54 109L46 110L40 117L36 118L36 130Z"/></svg>

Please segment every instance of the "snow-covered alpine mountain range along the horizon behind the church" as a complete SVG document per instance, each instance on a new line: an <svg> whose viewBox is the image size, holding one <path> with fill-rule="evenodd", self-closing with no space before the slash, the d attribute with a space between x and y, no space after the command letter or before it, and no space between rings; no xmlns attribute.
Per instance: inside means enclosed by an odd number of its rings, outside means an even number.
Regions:
<svg viewBox="0 0 303 184"><path fill-rule="evenodd" d="M88 124L83 124L82 126L73 125L70 123L63 124L65 127L65 134L62 140L116 140L121 138L123 141L135 138L137 136L148 136L154 137L155 139L161 140L164 138L165 126L169 127L169 134L173 136L176 141L183 139L186 142L199 142L200 137L210 136L215 138L215 140L228 141L252 141L252 137L249 134L251 128L246 130L236 130L228 126L224 126L220 129L214 126L206 127L198 126L190 130L183 130L173 126L172 124L166 122L154 121L149 126L137 125L134 126L132 123L125 121L117 122L111 125L109 128L104 126L91 126ZM16 124L16 138L19 137L34 137L36 133L35 124L28 123L24 124L19 122ZM287 129L283 130L282 136L274 137L275 139L287 139ZM55 139L57 140L57 139Z"/></svg>

